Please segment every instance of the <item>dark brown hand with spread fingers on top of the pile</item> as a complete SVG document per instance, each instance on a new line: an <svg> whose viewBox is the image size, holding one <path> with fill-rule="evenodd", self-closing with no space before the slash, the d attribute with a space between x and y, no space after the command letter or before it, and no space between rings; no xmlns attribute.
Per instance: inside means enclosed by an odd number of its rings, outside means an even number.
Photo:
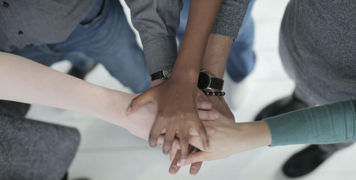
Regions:
<svg viewBox="0 0 356 180"><path fill-rule="evenodd" d="M181 161L185 162L188 155L188 130L194 128L201 138L205 150L209 150L208 135L201 123L197 109L196 83L182 82L173 78L159 84L132 100L127 113L135 112L139 106L153 102L157 106L155 122L149 135L151 147L157 145L162 130L166 128L163 153L168 154L172 148L176 131L182 150Z"/></svg>

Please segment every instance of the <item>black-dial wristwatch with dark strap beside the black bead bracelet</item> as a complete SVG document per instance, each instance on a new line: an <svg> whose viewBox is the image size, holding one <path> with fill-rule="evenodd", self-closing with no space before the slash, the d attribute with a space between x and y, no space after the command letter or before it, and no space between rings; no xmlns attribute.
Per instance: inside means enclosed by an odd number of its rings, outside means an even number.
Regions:
<svg viewBox="0 0 356 180"><path fill-rule="evenodd" d="M224 85L223 79L215 78L207 73L205 70L200 71L198 79L198 88L200 90L219 89L222 90Z"/></svg>

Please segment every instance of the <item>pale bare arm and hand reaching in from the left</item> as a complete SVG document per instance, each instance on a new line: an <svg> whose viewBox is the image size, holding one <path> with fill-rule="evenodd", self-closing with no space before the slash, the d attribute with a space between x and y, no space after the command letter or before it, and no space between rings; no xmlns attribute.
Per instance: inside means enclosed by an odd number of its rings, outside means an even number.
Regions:
<svg viewBox="0 0 356 180"><path fill-rule="evenodd" d="M79 112L119 125L138 137L148 139L156 107L150 103L135 114L126 108L137 94L104 88L69 76L37 62L0 52L0 99L39 104ZM199 109L211 104L199 103ZM201 119L215 119L215 112L199 111ZM212 131L211 131L212 130ZM208 128L214 133L214 129ZM196 134L191 129L190 134Z"/></svg>

